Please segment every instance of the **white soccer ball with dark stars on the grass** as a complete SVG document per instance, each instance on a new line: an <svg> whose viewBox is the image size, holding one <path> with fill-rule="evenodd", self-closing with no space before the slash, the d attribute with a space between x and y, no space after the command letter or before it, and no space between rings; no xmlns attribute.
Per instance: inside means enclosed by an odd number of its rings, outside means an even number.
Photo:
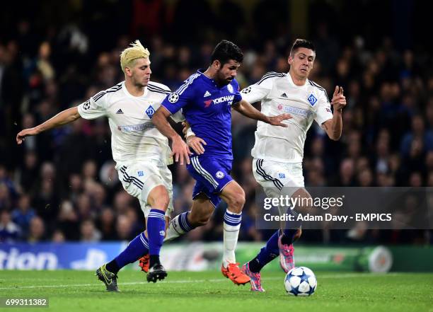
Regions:
<svg viewBox="0 0 433 312"><path fill-rule="evenodd" d="M308 267L294 267L284 279L284 287L291 296L311 296L317 288L317 279Z"/></svg>

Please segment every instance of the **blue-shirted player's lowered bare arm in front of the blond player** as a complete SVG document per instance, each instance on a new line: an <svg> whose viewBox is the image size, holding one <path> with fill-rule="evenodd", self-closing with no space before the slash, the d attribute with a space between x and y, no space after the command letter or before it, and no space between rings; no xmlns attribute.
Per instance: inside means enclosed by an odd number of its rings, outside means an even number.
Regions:
<svg viewBox="0 0 433 312"><path fill-rule="evenodd" d="M180 135L175 132L175 129L171 127L170 122L168 122L170 115L171 112L161 106L152 116L152 122L159 132L173 142L171 150L172 156L175 156L175 162L180 161L180 164L183 165L183 159L185 158L187 164L190 164L190 154L192 154L190 148L185 144Z"/></svg>

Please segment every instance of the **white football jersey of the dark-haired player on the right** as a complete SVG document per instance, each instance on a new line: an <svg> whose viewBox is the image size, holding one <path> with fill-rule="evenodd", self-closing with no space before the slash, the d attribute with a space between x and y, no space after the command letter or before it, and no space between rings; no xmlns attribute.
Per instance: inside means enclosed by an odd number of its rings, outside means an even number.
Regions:
<svg viewBox="0 0 433 312"><path fill-rule="evenodd" d="M267 73L257 83L244 88L241 96L249 103L261 101L261 111L267 116L283 113L292 116L283 122L287 128L257 123L251 151L254 158L301 163L306 133L313 120L322 125L333 117L324 88L308 79L304 86L296 86L289 74Z"/></svg>

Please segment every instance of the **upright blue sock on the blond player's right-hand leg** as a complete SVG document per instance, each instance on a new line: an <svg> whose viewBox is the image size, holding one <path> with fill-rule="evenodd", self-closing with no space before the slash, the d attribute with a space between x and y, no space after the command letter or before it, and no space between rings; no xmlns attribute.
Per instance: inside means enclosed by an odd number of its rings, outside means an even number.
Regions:
<svg viewBox="0 0 433 312"><path fill-rule="evenodd" d="M166 235L165 212L159 209L151 209L147 216L147 235L149 236L149 255L159 255Z"/></svg>

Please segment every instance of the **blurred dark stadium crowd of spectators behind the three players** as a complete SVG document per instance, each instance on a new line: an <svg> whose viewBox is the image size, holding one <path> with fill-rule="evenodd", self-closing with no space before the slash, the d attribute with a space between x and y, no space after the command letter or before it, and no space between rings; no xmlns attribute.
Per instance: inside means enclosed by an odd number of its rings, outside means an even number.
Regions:
<svg viewBox="0 0 433 312"><path fill-rule="evenodd" d="M79 119L28 137L23 146L15 142L19 130L122 81L119 52L132 40L138 38L149 47L151 79L172 90L196 69L207 67L221 38L243 49L245 59L237 77L242 87L267 71L289 69L287 55L294 37L286 31L287 23L251 25L231 1L221 1L217 8L197 2L195 12L209 16L209 28L201 31L194 30L186 1L174 7L164 1L125 1L129 6L120 10L113 7L116 1L107 1L112 6L99 19L91 15L93 2L104 1L83 1L83 7L69 15L57 8L60 16L67 15L67 23L55 18L52 23L40 22L30 13L7 26L10 18L2 19L1 33L8 35L0 35L0 242L130 240L143 230L138 202L117 179L106 120ZM269 11L264 3L256 1L251 14ZM235 8L225 16L233 23L221 22L227 7ZM27 11L32 9L39 10L30 6ZM149 9L154 14L142 18ZM38 12L47 18L53 14ZM274 14L275 21L284 21L279 18L284 10ZM122 24L110 23L119 19ZM304 157L306 186L433 187L432 54L392 34L373 38L368 29L335 33L333 23L322 20L313 25L309 39L316 44L317 59L311 80L328 94L335 85L343 86L348 103L340 141L327 139L317 125L310 130ZM255 229L259 185L250 157L255 122L233 112L232 124L233 178L247 198L240 240L262 241L272 230ZM192 203L194 180L185 166L173 165L171 170L178 214ZM221 240L222 206L207 226L183 239ZM433 243L433 237L432 231L420 230L317 230L305 231L301 242Z"/></svg>

